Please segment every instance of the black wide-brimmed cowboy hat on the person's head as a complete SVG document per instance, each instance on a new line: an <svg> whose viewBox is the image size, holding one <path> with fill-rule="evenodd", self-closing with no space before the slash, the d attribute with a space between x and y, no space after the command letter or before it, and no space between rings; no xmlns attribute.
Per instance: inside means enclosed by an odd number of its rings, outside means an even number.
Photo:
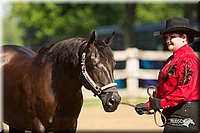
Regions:
<svg viewBox="0 0 200 133"><path fill-rule="evenodd" d="M156 31L154 36L164 35L167 33L186 33L192 37L200 37L200 32L191 28L190 21L187 18L171 18L166 21L166 29Z"/></svg>

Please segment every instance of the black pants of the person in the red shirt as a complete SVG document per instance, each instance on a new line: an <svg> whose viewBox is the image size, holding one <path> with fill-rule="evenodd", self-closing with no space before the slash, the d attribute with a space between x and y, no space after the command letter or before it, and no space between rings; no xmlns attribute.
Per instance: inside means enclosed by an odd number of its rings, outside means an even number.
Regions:
<svg viewBox="0 0 200 133"><path fill-rule="evenodd" d="M164 133L200 133L200 101L186 102L163 110Z"/></svg>

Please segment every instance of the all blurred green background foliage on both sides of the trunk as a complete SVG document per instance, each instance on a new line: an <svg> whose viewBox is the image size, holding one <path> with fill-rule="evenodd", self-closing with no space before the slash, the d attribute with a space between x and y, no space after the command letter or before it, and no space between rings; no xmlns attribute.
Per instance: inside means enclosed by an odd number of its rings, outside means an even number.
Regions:
<svg viewBox="0 0 200 133"><path fill-rule="evenodd" d="M191 8L190 11L195 10L192 6L187 7ZM184 8L184 4L138 3L136 12L133 12L136 13L134 22L135 24L164 22L169 17L183 16ZM76 36L87 37L89 32L100 26L122 25L126 19L124 16L125 3L15 2L12 3L9 20L6 21L8 23L5 24L5 42L14 42L9 38L20 38L18 40L23 40L24 45L37 49L45 43ZM10 26L16 24L19 24L20 30L12 28L10 31Z"/></svg>

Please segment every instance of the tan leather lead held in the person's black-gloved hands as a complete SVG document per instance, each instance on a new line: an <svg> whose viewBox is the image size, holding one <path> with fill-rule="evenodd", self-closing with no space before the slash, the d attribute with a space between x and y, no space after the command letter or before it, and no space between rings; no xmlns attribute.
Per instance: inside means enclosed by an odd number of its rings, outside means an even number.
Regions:
<svg viewBox="0 0 200 133"><path fill-rule="evenodd" d="M150 87L148 87L147 88L147 94L151 97L151 98L153 98L153 96L150 94L150 92L149 92L149 89L150 88L152 88L151 86ZM120 102L120 104L124 104L124 105L128 105L128 106L131 106L131 107L133 107L133 108L136 108L136 105L133 105L133 104L131 104L131 103L126 103L126 102ZM159 114L163 117L163 119L164 119L164 121L163 121L163 124L162 125L160 125L160 124L158 124L158 121L157 121L157 119L156 119L156 112L159 112ZM147 112L147 113L145 113L145 114L154 114L154 121L155 121L155 124L158 126L158 127L163 127L163 126L165 126L166 124L167 124L167 118L165 117L165 115L160 111L160 110L154 110L154 112Z"/></svg>

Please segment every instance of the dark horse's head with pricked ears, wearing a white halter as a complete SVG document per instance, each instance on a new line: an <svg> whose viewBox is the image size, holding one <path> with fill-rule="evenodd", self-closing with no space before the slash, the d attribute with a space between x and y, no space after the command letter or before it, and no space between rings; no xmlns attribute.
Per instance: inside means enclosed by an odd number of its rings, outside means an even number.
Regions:
<svg viewBox="0 0 200 133"><path fill-rule="evenodd" d="M115 111L121 100L113 76L116 62L109 47L113 38L114 32L105 40L96 40L93 31L81 52L83 85L101 99L106 112Z"/></svg>

